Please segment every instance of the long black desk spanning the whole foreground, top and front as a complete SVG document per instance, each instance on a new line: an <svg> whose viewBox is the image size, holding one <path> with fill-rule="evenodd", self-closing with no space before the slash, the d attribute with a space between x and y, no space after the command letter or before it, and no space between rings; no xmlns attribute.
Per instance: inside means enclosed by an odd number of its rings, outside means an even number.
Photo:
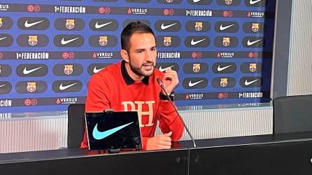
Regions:
<svg viewBox="0 0 312 175"><path fill-rule="evenodd" d="M180 141L164 151L0 154L1 174L312 174L312 132ZM88 167L88 168L87 168Z"/></svg>

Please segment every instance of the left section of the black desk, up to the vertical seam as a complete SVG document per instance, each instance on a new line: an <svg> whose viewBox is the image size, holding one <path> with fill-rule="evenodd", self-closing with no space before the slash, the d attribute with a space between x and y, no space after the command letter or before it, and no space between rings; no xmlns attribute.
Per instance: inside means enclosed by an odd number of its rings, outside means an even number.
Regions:
<svg viewBox="0 0 312 175"><path fill-rule="evenodd" d="M187 174L187 149L99 154L83 149L0 154L0 174Z"/></svg>

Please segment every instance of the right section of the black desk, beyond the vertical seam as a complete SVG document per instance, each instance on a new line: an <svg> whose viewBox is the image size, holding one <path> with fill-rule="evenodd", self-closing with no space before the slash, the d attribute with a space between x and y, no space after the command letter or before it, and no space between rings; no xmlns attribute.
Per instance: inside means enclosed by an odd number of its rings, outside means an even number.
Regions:
<svg viewBox="0 0 312 175"><path fill-rule="evenodd" d="M190 175L312 174L312 133L274 134L197 141L190 148Z"/></svg>

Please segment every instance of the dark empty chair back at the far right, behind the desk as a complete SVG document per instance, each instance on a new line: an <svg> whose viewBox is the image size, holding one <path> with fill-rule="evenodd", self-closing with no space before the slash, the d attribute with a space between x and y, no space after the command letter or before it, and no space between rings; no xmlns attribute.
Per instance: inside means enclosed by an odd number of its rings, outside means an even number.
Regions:
<svg viewBox="0 0 312 175"><path fill-rule="evenodd" d="M273 100L274 134L312 131L312 94Z"/></svg>

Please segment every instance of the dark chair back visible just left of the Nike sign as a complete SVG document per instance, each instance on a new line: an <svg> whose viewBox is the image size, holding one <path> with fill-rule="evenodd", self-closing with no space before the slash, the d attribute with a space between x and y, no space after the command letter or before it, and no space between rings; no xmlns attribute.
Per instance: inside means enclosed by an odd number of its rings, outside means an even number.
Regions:
<svg viewBox="0 0 312 175"><path fill-rule="evenodd" d="M67 148L80 148L85 131L85 104L69 105L67 127Z"/></svg>

